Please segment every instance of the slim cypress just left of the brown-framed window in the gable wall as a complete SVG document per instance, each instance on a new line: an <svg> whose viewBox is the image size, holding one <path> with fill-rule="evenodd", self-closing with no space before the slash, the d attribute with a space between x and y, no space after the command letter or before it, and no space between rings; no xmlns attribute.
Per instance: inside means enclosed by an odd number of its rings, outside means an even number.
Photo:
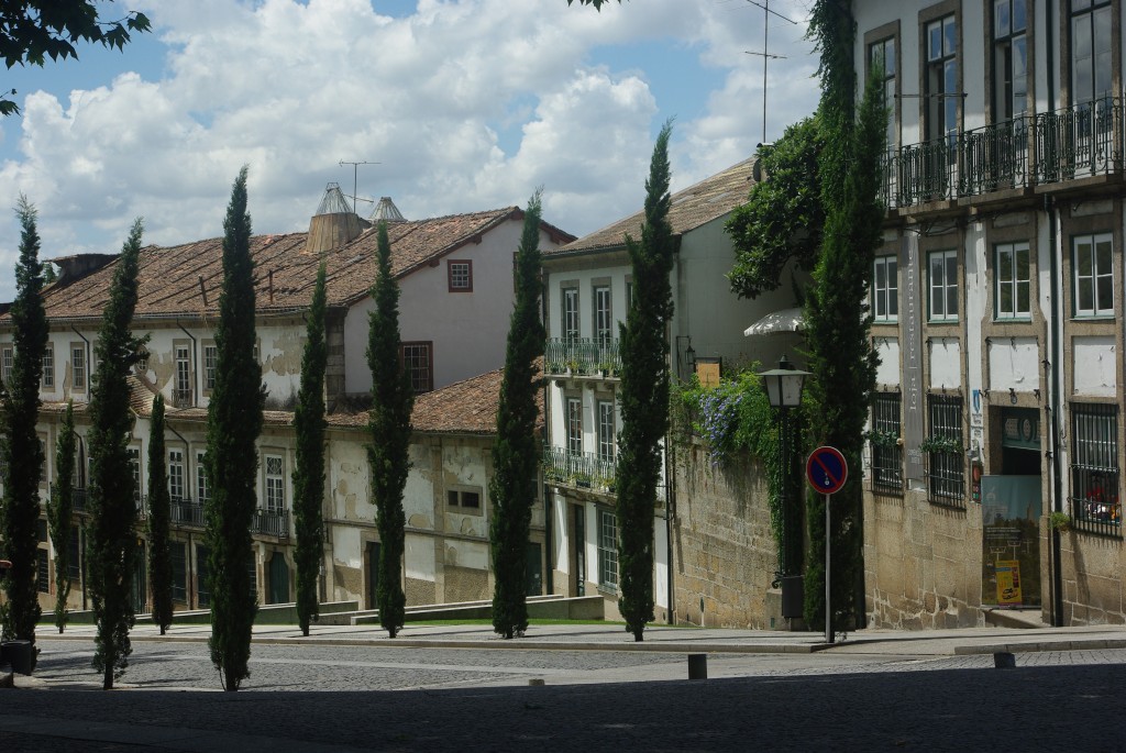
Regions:
<svg viewBox="0 0 1126 753"><path fill-rule="evenodd" d="M372 297L375 310L369 319L367 364L372 369L372 496L379 530L379 580L376 600L379 625L392 638L403 627L406 597L402 585L403 487L410 470L411 410L414 391L410 373L400 358L399 283L391 275L391 242L387 224L379 223L378 270Z"/></svg>

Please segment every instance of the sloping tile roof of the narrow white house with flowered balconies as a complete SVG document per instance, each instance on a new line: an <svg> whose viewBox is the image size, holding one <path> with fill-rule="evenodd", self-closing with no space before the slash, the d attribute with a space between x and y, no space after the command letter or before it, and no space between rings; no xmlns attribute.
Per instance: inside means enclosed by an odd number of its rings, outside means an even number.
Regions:
<svg viewBox="0 0 1126 753"><path fill-rule="evenodd" d="M745 204L753 180L753 159L744 160L695 186L673 194L672 206L669 207L669 222L672 224L672 232L682 235L727 214L740 204ZM590 235L584 235L573 243L557 249L545 249L544 257L624 246L626 233L634 240L641 239L641 225L644 218L645 212L641 210L602 230L595 231Z"/></svg>

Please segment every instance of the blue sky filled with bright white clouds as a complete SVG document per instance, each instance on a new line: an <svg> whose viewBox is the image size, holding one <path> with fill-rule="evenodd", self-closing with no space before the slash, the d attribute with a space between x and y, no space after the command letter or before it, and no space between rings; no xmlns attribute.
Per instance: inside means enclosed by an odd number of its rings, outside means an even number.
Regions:
<svg viewBox="0 0 1126 753"><path fill-rule="evenodd" d="M766 29L762 5L99 2L152 32L0 70L21 109L0 118L0 301L21 194L41 259L116 253L136 217L146 244L222 235L243 164L256 234L307 230L337 182L361 216L390 196L408 219L525 206L542 187L544 219L582 236L641 208L668 119L676 191L813 113L812 0L774 0ZM781 56L766 97L762 52Z"/></svg>

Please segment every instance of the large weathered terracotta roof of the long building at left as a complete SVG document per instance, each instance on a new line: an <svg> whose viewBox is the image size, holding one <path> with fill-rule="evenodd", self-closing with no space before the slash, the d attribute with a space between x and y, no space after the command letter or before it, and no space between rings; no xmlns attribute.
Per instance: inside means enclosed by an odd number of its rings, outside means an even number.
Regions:
<svg viewBox="0 0 1126 753"><path fill-rule="evenodd" d="M504 207L489 212L449 215L392 223L392 270L409 275L524 212ZM544 230L562 241L573 236L544 223ZM304 252L307 233L256 235L250 253L256 266L259 312L304 308L313 294L319 258ZM347 305L367 296L375 281L376 231L365 231L350 243L330 251L328 260L329 305ZM516 249L512 249L516 251ZM213 237L169 248L148 246L141 252L137 274L136 316L193 316L218 314L223 281L223 239ZM100 317L116 265L109 265L70 285L44 292L48 319ZM0 321L2 321L0 316Z"/></svg>

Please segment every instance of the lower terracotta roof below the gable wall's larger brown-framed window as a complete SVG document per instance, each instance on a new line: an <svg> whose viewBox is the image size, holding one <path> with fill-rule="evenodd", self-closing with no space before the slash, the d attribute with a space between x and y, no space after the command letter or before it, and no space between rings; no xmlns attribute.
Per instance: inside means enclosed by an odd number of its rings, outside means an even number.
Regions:
<svg viewBox="0 0 1126 753"><path fill-rule="evenodd" d="M411 425L415 432L495 434L497 410L503 371L497 369L481 376L419 395L414 398ZM543 393L536 401L543 418ZM361 428L367 425L367 411L343 411L328 416L329 425Z"/></svg>

